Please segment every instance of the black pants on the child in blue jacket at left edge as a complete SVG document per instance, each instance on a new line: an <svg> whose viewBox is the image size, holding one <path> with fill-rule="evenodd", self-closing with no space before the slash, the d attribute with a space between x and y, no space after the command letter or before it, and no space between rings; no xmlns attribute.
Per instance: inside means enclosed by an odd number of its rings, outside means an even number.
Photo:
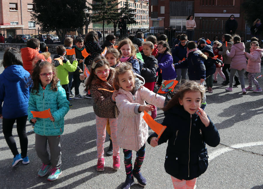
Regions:
<svg viewBox="0 0 263 189"><path fill-rule="evenodd" d="M12 119L3 118L3 133L6 139L6 143L8 144L10 150L12 151L14 157L18 155L18 150L15 144L15 139L12 135L13 125L16 120L16 129L19 136L20 148L21 148L21 156L27 156L27 133L26 133L26 123L27 123L27 115L23 117L17 117Z"/></svg>

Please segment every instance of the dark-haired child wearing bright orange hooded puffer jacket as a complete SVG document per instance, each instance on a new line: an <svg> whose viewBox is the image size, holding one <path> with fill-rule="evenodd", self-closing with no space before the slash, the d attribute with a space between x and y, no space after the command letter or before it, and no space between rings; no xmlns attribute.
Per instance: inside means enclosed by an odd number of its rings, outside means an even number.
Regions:
<svg viewBox="0 0 263 189"><path fill-rule="evenodd" d="M27 47L21 48L21 57L23 60L23 67L31 73L32 67L37 60L46 60L44 55L39 54L40 41L35 38L27 40ZM51 58L47 59L51 63Z"/></svg>

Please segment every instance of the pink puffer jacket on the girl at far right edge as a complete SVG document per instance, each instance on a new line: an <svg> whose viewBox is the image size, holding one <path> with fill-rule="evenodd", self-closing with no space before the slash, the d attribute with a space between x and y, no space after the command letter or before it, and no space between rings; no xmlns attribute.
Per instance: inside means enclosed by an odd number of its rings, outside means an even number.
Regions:
<svg viewBox="0 0 263 189"><path fill-rule="evenodd" d="M250 53L247 53L246 56L248 57L248 65L247 65L247 72L250 73L260 73L260 64L261 58L263 56L263 49L256 48L252 50L250 48Z"/></svg>

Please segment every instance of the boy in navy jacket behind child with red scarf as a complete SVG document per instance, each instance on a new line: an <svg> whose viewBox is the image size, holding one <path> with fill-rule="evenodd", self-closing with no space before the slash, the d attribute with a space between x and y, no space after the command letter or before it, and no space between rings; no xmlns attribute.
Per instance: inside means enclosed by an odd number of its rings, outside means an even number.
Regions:
<svg viewBox="0 0 263 189"><path fill-rule="evenodd" d="M183 59L186 59L186 53L187 53L187 35L181 34L180 35L180 42L178 46L174 47L174 51L172 53L174 63L181 62ZM187 75L187 69L186 68L178 68L176 69L177 78L176 80L180 84L181 77L182 82L186 80Z"/></svg>

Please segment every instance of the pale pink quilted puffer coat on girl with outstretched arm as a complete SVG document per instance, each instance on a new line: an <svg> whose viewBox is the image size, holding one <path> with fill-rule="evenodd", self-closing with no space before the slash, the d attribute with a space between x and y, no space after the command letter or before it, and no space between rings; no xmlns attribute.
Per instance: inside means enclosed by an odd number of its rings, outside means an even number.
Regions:
<svg viewBox="0 0 263 189"><path fill-rule="evenodd" d="M143 86L144 79L138 74L135 78L133 93L120 88L116 105L120 110L118 116L118 145L126 150L138 151L147 141L148 125L143 119L144 112L138 112L145 101L156 107L164 107L165 97L155 94ZM156 96L155 96L156 95Z"/></svg>

